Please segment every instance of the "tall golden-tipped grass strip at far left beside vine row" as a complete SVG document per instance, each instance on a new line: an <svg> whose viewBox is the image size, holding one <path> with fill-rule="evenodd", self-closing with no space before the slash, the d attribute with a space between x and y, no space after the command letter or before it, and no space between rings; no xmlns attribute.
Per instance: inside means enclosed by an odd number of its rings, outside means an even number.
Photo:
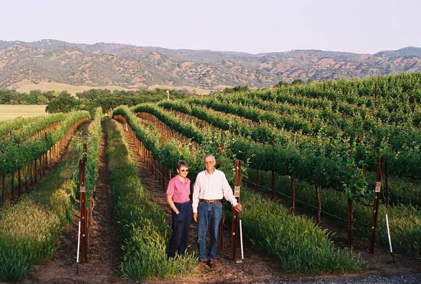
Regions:
<svg viewBox="0 0 421 284"><path fill-rule="evenodd" d="M73 144L69 146L71 149ZM20 281L33 264L49 259L71 220L77 159L68 151L60 164L16 205L0 214L0 279Z"/></svg>

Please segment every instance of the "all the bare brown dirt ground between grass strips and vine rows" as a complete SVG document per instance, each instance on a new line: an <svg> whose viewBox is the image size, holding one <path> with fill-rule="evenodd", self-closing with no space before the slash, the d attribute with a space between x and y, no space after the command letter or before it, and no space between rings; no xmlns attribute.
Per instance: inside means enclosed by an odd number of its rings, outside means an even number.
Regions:
<svg viewBox="0 0 421 284"><path fill-rule="evenodd" d="M127 133L127 132L126 132ZM127 133L127 138L128 138ZM130 141L129 139L127 139ZM130 143L131 149L135 147ZM134 151L136 153L136 151ZM156 203L166 210L166 219L170 223L170 209L166 204L165 190L151 175L151 170L141 161L140 155L136 153L140 175L144 185L151 192ZM374 254L367 252L367 242L355 240L354 251L360 253L365 261L370 263L371 268L359 274L337 274L322 276L305 276L302 274L286 274L282 270L281 263L265 253L259 253L251 247L251 244L244 240L244 260L242 263L230 259L231 233L229 229L224 230L224 248L218 250L216 268L209 268L200 264L193 274L178 276L173 279L162 281L152 279L149 281L129 281L116 276L118 270L121 250L118 243L115 221L112 218L110 209L110 187L107 183L107 171L105 168L105 141L101 140L99 180L94 196L94 226L90 236L90 248L88 250L88 263L79 264L79 274L76 274L76 248L77 248L77 224L78 213L72 224L60 237L60 248L55 252L53 260L43 263L34 268L34 273L23 283L255 283L263 281L311 281L317 279L354 279L361 276L373 275L394 275L394 274L416 274L421 273L421 261L407 255L394 255L394 262L390 261L390 255L382 248L374 248ZM166 187L164 187L166 188ZM288 205L286 205L288 206ZM303 210L297 208L298 214ZM339 247L346 246L346 230L338 231L338 224L322 220L321 226L328 231L335 232L332 240ZM343 226L342 226L343 227ZM196 249L196 223L190 228L190 245L188 250ZM240 248L236 254L241 255Z"/></svg>

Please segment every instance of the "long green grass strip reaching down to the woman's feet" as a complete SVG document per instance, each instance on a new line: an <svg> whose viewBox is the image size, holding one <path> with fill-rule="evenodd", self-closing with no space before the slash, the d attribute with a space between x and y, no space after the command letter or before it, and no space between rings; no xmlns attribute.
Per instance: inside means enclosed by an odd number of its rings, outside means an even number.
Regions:
<svg viewBox="0 0 421 284"><path fill-rule="evenodd" d="M196 255L188 253L174 259L166 256L170 227L165 211L144 190L138 164L120 125L110 118L105 119L105 125L113 209L124 251L121 274L131 279L166 279L192 272L197 266Z"/></svg>

